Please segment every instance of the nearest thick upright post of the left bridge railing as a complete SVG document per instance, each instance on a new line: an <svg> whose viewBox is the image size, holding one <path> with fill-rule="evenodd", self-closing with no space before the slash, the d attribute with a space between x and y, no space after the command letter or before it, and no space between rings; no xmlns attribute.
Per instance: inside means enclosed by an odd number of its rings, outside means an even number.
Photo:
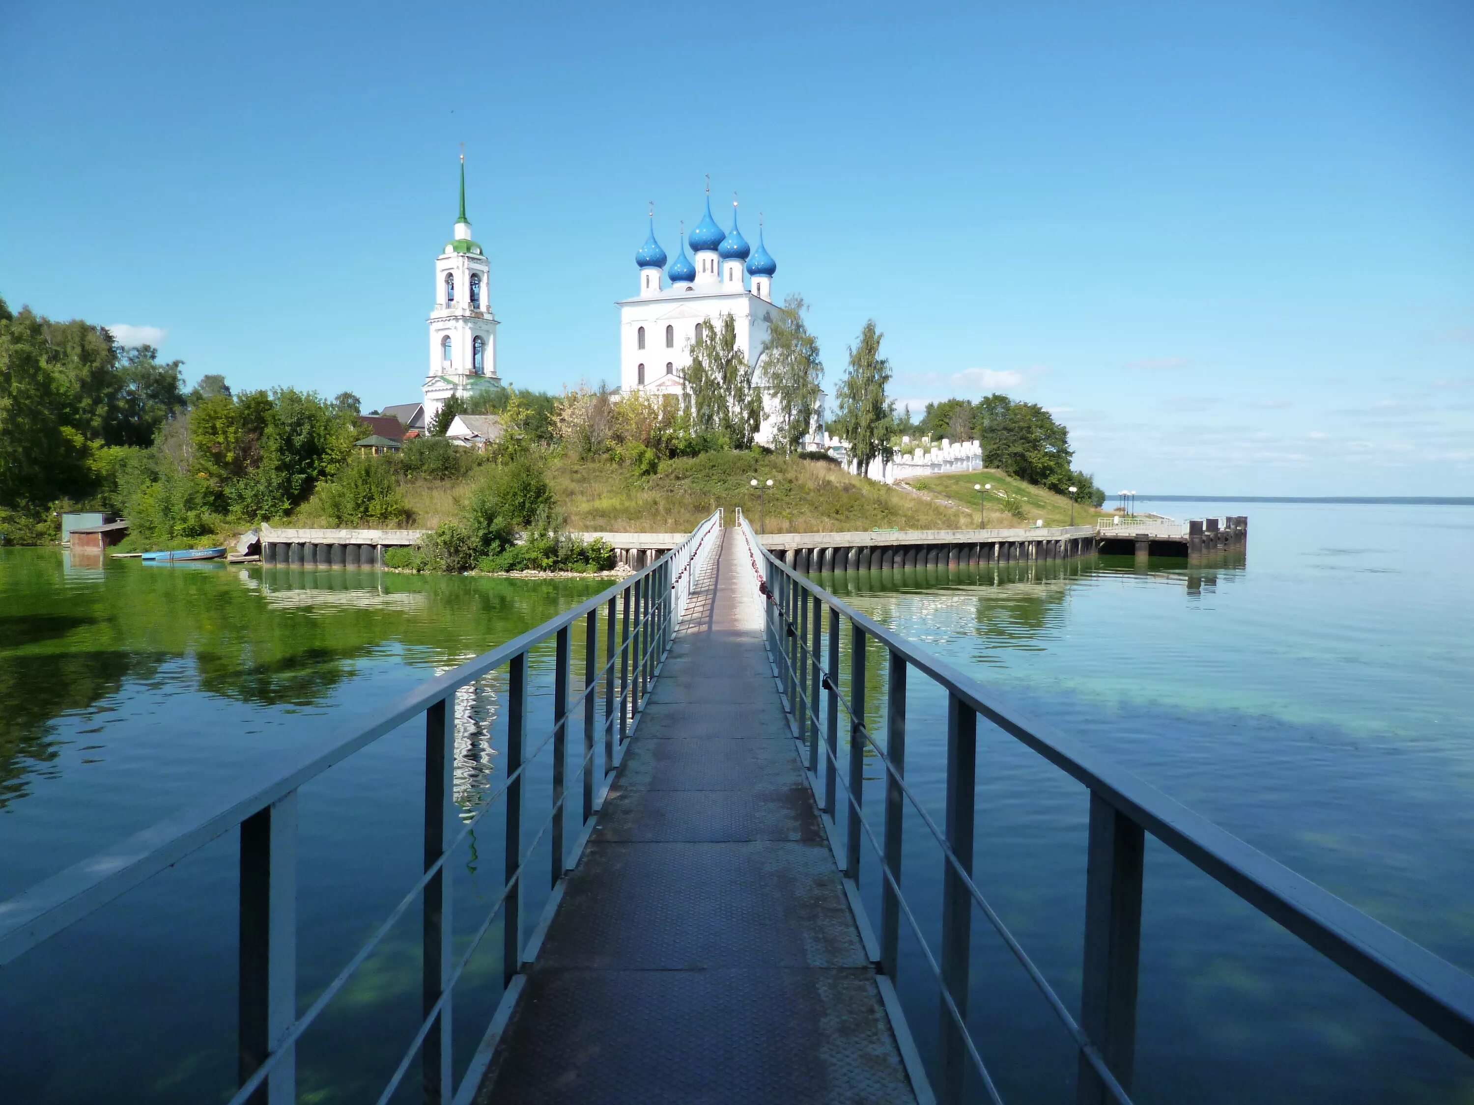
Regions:
<svg viewBox="0 0 1474 1105"><path fill-rule="evenodd" d="M296 791L240 822L237 1086L296 1020ZM251 1105L296 1101L296 1049L271 1068Z"/></svg>

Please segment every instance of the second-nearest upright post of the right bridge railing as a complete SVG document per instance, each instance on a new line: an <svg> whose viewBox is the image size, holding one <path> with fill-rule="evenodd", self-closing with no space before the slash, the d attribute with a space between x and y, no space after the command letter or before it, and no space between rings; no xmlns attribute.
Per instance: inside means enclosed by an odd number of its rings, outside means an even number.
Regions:
<svg viewBox="0 0 1474 1105"><path fill-rule="evenodd" d="M977 712L955 695L946 704L946 846L968 877L973 874L973 796L977 782ZM942 860L942 984L967 1021L967 977L971 955L973 896L957 869ZM963 1101L968 1055L963 1031L942 1003L942 1101Z"/></svg>

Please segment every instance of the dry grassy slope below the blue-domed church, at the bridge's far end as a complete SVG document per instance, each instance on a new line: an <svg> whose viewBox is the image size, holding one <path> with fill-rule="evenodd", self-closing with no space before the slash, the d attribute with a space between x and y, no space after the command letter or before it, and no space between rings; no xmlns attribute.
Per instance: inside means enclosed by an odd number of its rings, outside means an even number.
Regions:
<svg viewBox="0 0 1474 1105"><path fill-rule="evenodd" d="M559 508L573 530L659 532L693 529L716 507L741 507L758 522L764 492L769 533L867 529L954 529L967 522L955 504L850 476L837 464L750 452L708 452L662 461L654 476L607 460L560 458L548 470ZM974 514L976 517L976 514Z"/></svg>

